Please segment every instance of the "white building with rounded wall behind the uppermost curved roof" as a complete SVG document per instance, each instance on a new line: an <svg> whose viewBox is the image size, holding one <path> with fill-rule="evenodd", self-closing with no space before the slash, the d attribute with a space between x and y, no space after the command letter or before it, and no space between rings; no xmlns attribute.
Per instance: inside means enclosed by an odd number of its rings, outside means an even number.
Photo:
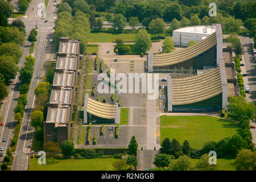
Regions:
<svg viewBox="0 0 256 182"><path fill-rule="evenodd" d="M201 25L178 28L172 32L172 40L175 46L187 47L189 41L200 42L216 31L216 27Z"/></svg>

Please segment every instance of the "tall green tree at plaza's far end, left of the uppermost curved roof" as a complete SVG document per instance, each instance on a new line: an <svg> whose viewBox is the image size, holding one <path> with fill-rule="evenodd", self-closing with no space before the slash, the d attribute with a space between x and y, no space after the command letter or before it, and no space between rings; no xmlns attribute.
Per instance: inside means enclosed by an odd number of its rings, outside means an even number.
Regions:
<svg viewBox="0 0 256 182"><path fill-rule="evenodd" d="M142 28L137 32L135 36L135 44L133 48L136 52L146 53L146 51L150 49L150 47L151 47L150 35L147 34L146 29Z"/></svg>

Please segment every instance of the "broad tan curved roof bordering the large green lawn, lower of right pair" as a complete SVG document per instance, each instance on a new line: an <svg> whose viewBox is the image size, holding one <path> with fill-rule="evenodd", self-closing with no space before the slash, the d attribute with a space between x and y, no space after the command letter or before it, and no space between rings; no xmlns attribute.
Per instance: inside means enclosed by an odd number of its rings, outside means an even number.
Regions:
<svg viewBox="0 0 256 182"><path fill-rule="evenodd" d="M222 93L220 68L188 78L172 78L172 105L200 102Z"/></svg>

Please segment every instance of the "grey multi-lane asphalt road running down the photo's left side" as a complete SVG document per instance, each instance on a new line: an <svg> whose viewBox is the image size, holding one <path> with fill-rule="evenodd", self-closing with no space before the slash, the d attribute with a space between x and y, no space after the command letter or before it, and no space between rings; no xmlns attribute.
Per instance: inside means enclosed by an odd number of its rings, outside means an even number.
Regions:
<svg viewBox="0 0 256 182"><path fill-rule="evenodd" d="M28 167L28 152L31 151L32 146L32 137L34 134L34 129L30 126L30 115L32 108L35 103L35 94L34 89L38 82L41 81L43 72L43 64L47 59L53 58L54 47L53 44L49 44L49 39L53 38L53 27L55 27L55 18L56 18L56 7L53 7L53 2L49 1L48 8L46 10L46 19L41 19L38 16L39 3L44 3L44 0L34 0L30 7L28 7L26 16L21 19L26 26L26 33L29 35L29 32L32 28L35 28L36 23L38 26L38 41L35 43L34 53L32 54L35 61L34 75L32 77L30 92L28 93L28 103L25 108L25 113L22 121L22 126L20 127L20 133L18 138L18 143L15 151L14 161L12 170L26 170ZM34 8L34 10L33 10ZM44 23L44 20L48 20L47 23ZM30 43L26 42L26 46L24 46L24 52L22 57L22 63L24 62L24 56L28 55ZM17 79L19 83L19 80ZM18 84L17 84L18 85ZM8 121L13 121L13 109L16 105L16 99L18 98L18 87L15 92L15 96L13 97L13 103L11 103L11 108L9 109L9 113L7 113ZM6 130L6 129L5 129ZM10 130L10 129L9 129ZM5 136L7 136L8 130L4 131ZM9 138L10 141L10 138ZM1 142L2 143L2 142Z"/></svg>

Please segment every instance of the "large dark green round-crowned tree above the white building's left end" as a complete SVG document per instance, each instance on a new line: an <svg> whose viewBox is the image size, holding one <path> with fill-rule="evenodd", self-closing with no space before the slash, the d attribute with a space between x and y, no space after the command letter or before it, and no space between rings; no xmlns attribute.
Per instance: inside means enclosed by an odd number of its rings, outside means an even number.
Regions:
<svg viewBox="0 0 256 182"><path fill-rule="evenodd" d="M183 11L181 6L177 3L171 3L164 7L163 18L167 22L171 22L172 19L176 18L177 20L181 20L183 15Z"/></svg>

